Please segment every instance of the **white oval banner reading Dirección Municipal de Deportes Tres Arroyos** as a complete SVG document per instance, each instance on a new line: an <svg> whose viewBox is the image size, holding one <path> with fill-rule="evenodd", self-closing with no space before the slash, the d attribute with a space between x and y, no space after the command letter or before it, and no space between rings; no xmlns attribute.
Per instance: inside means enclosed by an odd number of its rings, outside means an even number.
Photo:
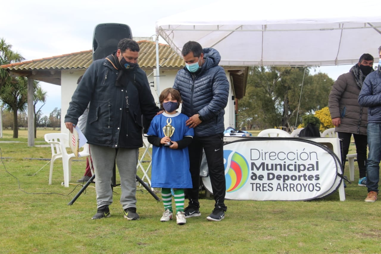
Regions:
<svg viewBox="0 0 381 254"><path fill-rule="evenodd" d="M226 199L310 200L335 191L337 156L301 138L238 140L224 145ZM205 188L212 193L209 177Z"/></svg>

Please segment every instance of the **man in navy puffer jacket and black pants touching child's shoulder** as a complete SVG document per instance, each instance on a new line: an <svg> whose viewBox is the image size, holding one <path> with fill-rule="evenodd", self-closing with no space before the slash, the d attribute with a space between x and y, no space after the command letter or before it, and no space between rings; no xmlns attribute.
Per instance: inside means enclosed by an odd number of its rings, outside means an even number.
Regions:
<svg viewBox="0 0 381 254"><path fill-rule="evenodd" d="M224 69L218 66L221 56L213 48L202 48L198 42L185 43L181 51L186 67L174 80L173 88L182 98L181 112L189 116L187 126L194 128L194 138L188 146L193 188L186 189L189 205L185 217L200 216L199 187L202 151L205 151L215 209L208 220L224 219L226 183L223 154L224 114L229 81Z"/></svg>

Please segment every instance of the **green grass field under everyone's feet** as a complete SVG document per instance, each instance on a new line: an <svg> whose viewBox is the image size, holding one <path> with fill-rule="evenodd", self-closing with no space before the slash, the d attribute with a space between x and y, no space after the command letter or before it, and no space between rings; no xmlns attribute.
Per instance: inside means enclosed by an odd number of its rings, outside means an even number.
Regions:
<svg viewBox="0 0 381 254"><path fill-rule="evenodd" d="M8 130L5 130L7 132ZM46 144L38 130L36 145ZM56 131L59 132L59 131ZM10 131L11 133L11 131ZM346 201L339 194L319 201L234 201L221 222L206 217L214 200L201 193L200 217L186 225L159 221L163 207L146 190L137 193L139 221L123 219L120 188L114 188L111 217L91 220L96 212L94 185L71 206L80 190L85 160L72 163L72 182L63 182L62 163L54 163L48 185L50 147L28 147L21 138L0 141L0 253L380 253L381 201L365 203L364 186L347 183ZM141 150L142 152L143 150ZM351 145L349 153L355 153ZM39 158L39 159L24 159ZM145 165L147 166L147 165ZM346 166L346 174L349 175ZM141 170L139 176L142 177ZM117 176L117 180L118 180Z"/></svg>

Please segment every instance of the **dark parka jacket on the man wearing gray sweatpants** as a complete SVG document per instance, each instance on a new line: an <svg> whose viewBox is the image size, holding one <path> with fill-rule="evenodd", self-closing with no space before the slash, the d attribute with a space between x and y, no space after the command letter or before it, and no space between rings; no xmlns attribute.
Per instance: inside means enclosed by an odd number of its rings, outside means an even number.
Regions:
<svg viewBox="0 0 381 254"><path fill-rule="evenodd" d="M114 56L107 57L114 66ZM142 142L142 116L149 122L158 107L146 73L139 67L127 71L127 82L116 85L120 70L107 59L94 61L75 90L65 122L77 124L90 101L85 137L89 144L113 148L138 148Z"/></svg>

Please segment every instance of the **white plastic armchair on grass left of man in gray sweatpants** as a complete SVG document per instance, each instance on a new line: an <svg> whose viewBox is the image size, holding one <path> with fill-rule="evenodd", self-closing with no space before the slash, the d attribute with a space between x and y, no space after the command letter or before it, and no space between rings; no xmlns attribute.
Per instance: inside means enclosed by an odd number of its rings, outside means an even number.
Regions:
<svg viewBox="0 0 381 254"><path fill-rule="evenodd" d="M68 144L69 136L66 133L47 133L45 134L45 141L50 144L51 147L51 162L50 162L50 172L49 172L49 185L51 185L53 177L53 163L56 159L62 158L62 166L64 170L64 185L69 187L69 181L71 180L71 162L72 158L75 157L74 153L68 154L66 151L66 144ZM83 151L78 153L79 157L88 157L90 166L90 150L89 145L85 144Z"/></svg>

